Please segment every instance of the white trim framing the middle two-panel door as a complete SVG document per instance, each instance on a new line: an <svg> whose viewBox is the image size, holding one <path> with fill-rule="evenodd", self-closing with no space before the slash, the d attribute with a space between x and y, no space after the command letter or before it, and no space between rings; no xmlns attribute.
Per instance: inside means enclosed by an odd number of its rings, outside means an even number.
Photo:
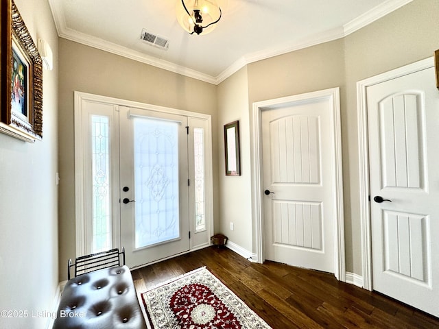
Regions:
<svg viewBox="0 0 439 329"><path fill-rule="evenodd" d="M257 262L265 260L263 234L263 162L262 162L262 127L261 112L268 108L277 108L288 103L310 101L314 99L329 99L331 102L331 120L333 134L333 206L334 206L334 271L337 280L346 281L346 260L344 249L344 210L343 210L343 182L342 182L342 137L340 120L340 88L318 90L311 93L257 101L252 108L252 212L254 217L254 234L256 236Z"/></svg>

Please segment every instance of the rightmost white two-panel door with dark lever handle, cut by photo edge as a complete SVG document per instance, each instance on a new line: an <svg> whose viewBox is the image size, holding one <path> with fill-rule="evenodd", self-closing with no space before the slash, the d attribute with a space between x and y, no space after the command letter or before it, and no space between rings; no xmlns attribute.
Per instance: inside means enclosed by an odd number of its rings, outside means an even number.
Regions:
<svg viewBox="0 0 439 329"><path fill-rule="evenodd" d="M367 88L373 289L439 316L434 68Z"/></svg>

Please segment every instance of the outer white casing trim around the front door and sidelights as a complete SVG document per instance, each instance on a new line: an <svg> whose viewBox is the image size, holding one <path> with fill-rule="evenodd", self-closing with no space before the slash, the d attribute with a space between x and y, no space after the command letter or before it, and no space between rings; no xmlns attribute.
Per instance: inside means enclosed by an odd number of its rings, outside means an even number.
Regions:
<svg viewBox="0 0 439 329"><path fill-rule="evenodd" d="M137 101L129 101L126 99L118 99L114 97L107 97L102 95L94 95L90 93L83 93L80 91L74 91L74 126L75 126L75 252L76 257L86 254L86 238L85 238L85 213L84 213L84 143L82 141L82 132L77 131L77 127L82 123L82 101L97 101L100 103L108 103L115 106L127 106L130 108L140 108L143 110L152 110L156 112L165 112L169 114L184 115L186 117L192 117L196 119L202 119L207 121L208 132L206 132L207 151L206 161L208 165L205 167L206 175L206 224L208 237L213 235L213 146L212 146L212 116L210 114L191 112L187 110L179 110L176 108L167 108L165 106L157 106L148 103L141 103ZM195 232L194 232L195 233ZM119 232L120 234L120 232ZM116 239L120 239L117 237ZM191 243L191 242L190 242ZM189 252L209 246L210 242L206 241L205 245L189 245L191 249Z"/></svg>

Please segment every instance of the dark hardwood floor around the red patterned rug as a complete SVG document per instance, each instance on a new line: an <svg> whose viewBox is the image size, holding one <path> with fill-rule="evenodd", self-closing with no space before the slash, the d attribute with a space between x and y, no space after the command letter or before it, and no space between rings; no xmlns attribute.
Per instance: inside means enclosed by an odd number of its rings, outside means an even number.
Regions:
<svg viewBox="0 0 439 329"><path fill-rule="evenodd" d="M250 263L208 247L132 271L138 293L206 266L274 329L439 328L439 319L329 273L267 261Z"/></svg>

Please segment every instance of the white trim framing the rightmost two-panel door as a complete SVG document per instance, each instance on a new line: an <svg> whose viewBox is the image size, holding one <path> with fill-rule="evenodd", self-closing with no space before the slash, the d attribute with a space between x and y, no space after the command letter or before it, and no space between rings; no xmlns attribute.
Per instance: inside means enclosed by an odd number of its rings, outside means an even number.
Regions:
<svg viewBox="0 0 439 329"><path fill-rule="evenodd" d="M434 57L426 58L357 82L357 125L359 151L359 219L361 227L361 264L364 289L372 291L372 233L370 219L370 169L367 117L367 88L388 80L429 69Z"/></svg>

